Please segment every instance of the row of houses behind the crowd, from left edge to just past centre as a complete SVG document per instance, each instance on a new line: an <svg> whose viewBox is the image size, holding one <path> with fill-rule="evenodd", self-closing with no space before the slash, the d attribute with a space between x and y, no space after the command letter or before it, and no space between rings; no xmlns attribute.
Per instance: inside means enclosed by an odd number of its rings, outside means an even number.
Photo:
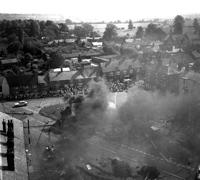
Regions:
<svg viewBox="0 0 200 180"><path fill-rule="evenodd" d="M81 63L79 69L50 69L44 75L37 72L7 74L0 78L0 95L2 97L18 94L42 93L49 90L65 88L66 85L84 86L92 79L104 77L107 80L136 80L141 65L138 61L126 59L123 61L94 57L87 63Z"/></svg>

